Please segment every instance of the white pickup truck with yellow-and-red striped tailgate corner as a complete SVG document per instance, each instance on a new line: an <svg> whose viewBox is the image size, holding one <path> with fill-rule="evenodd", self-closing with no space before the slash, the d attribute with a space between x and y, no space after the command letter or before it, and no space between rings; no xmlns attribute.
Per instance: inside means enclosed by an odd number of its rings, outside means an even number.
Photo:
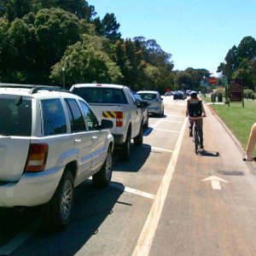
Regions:
<svg viewBox="0 0 256 256"><path fill-rule="evenodd" d="M74 84L70 91L84 98L96 113L97 119L110 119L114 148L119 149L121 160L130 156L131 139L143 144L143 113L145 102L137 102L131 90L118 84ZM147 103L146 103L147 104Z"/></svg>

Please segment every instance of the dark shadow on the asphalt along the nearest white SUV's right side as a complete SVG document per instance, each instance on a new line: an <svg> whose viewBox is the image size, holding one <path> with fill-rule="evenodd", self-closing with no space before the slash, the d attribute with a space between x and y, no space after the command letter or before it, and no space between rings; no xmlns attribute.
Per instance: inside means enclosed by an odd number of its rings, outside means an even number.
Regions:
<svg viewBox="0 0 256 256"><path fill-rule="evenodd" d="M119 184L119 188L122 184ZM124 189L108 187L95 189L88 180L81 184L81 193L74 201L73 218L67 229L59 233L38 230L12 255L74 255L84 247L91 236L99 233L102 222L113 214L113 207L119 202ZM127 207L131 207L127 204Z"/></svg>

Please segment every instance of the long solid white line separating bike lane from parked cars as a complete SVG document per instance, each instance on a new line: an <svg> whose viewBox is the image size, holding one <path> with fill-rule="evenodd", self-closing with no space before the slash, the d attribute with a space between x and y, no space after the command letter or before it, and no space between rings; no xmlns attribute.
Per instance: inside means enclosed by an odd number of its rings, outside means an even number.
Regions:
<svg viewBox="0 0 256 256"><path fill-rule="evenodd" d="M183 134L187 127L187 119L184 120L182 129L179 136L177 137L177 143L173 150L172 158L166 169L166 173L160 184L160 188L156 194L153 206L148 214L148 218L144 224L143 231L137 241L137 246L135 247L132 256L147 256L154 239L154 233L160 220L160 215L166 201L166 195L172 181L172 174L175 171L175 166L177 165L177 157L181 148Z"/></svg>

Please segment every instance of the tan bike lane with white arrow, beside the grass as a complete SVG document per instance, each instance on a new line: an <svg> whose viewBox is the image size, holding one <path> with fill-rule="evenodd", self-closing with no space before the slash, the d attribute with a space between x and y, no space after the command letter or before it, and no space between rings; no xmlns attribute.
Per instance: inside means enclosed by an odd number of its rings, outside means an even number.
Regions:
<svg viewBox="0 0 256 256"><path fill-rule="evenodd" d="M253 169L208 108L204 144L205 151L196 155L187 126L149 255L256 252Z"/></svg>

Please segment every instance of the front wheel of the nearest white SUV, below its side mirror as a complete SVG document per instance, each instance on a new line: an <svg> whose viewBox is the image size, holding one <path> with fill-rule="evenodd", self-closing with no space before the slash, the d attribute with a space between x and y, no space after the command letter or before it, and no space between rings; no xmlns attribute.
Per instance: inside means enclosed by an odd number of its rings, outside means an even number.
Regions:
<svg viewBox="0 0 256 256"><path fill-rule="evenodd" d="M108 148L107 158L99 172L92 176L92 182L97 188L108 187L112 177L113 154Z"/></svg>

